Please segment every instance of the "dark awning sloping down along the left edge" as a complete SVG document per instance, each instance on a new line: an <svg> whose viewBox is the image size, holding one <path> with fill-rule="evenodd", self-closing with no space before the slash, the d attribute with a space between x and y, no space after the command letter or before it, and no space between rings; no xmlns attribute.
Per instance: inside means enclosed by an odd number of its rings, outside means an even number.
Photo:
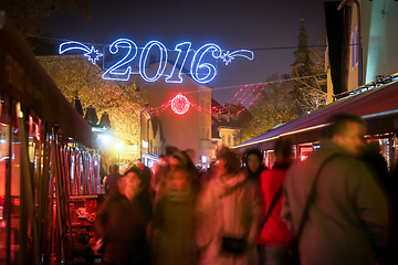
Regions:
<svg viewBox="0 0 398 265"><path fill-rule="evenodd" d="M0 93L32 109L62 134L92 147L92 128L62 95L28 44L0 11Z"/></svg>

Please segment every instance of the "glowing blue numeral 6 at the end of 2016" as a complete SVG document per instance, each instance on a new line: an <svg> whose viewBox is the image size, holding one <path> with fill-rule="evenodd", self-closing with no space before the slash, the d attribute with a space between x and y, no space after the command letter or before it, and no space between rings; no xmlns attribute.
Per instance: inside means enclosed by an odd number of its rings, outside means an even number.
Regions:
<svg viewBox="0 0 398 265"><path fill-rule="evenodd" d="M191 75L192 75L192 78L198 82L198 83L209 83L210 81L212 81L216 75L217 75L217 68L214 65L210 64L210 63L201 63L202 61L202 57L205 56L205 54L207 52L211 52L212 56L214 59L219 59L221 56L221 47L216 45L216 44L212 44L212 43L209 43L209 44L205 44L202 45L193 55L193 59L192 59L192 62L191 62ZM200 73L199 73L199 70ZM203 74L203 72L207 72L206 73L206 76L205 77L200 77L199 74Z"/></svg>

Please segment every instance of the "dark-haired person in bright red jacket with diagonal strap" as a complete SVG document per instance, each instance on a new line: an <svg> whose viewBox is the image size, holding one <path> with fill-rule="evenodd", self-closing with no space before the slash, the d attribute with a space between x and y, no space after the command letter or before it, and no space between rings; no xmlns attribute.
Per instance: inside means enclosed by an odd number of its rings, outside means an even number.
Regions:
<svg viewBox="0 0 398 265"><path fill-rule="evenodd" d="M261 227L256 244L261 247L262 264L286 264L287 245L293 239L292 232L281 219L282 186L286 171L292 163L292 144L289 139L280 138L274 147L275 162L270 170L260 176L260 194L263 202L263 218L268 215L272 202L275 200L269 218ZM276 199L275 199L276 198Z"/></svg>

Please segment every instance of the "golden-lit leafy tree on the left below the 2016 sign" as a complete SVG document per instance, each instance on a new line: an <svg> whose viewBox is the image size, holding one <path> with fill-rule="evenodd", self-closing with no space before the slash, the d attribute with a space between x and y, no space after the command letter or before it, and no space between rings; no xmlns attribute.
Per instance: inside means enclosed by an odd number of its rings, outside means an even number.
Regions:
<svg viewBox="0 0 398 265"><path fill-rule="evenodd" d="M84 110L93 106L98 116L106 112L112 131L139 146L140 114L146 102L136 92L135 83L103 80L103 70L83 55L39 56L38 60L70 102L77 95Z"/></svg>

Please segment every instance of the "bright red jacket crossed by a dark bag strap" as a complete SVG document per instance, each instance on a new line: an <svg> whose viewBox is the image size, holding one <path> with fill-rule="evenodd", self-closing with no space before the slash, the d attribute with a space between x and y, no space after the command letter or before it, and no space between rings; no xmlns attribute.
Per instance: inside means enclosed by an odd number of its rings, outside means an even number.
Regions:
<svg viewBox="0 0 398 265"><path fill-rule="evenodd" d="M287 168L291 161L276 160L272 169L264 170L260 176L260 194L263 204L263 219L270 210L271 203L274 200L277 191L282 188ZM293 239L292 232L281 219L282 211L281 194L273 206L271 214L264 225L261 227L258 245L265 246L287 246Z"/></svg>

